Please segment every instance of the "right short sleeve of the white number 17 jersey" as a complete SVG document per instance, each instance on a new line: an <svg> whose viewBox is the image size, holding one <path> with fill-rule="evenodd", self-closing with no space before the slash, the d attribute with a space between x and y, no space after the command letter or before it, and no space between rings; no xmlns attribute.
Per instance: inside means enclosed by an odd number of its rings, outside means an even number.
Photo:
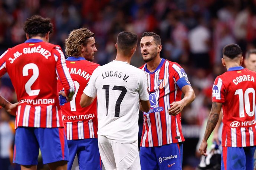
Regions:
<svg viewBox="0 0 256 170"><path fill-rule="evenodd" d="M140 87L139 94L142 101L148 101L148 79L144 71L140 70Z"/></svg>

